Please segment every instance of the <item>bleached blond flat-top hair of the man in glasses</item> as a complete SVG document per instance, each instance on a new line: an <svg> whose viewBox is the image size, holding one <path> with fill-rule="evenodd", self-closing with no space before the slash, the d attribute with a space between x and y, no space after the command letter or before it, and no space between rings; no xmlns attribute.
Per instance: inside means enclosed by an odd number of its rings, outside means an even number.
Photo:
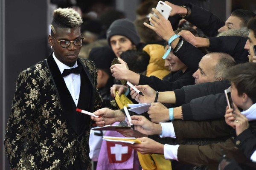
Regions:
<svg viewBox="0 0 256 170"><path fill-rule="evenodd" d="M83 23L79 13L73 8L58 8L53 12L51 34L55 28L78 28Z"/></svg>

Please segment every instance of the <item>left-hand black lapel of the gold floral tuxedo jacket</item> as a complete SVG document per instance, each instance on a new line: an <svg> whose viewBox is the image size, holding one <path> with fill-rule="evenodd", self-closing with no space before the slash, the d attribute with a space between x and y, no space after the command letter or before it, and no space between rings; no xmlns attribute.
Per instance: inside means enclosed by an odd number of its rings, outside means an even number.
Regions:
<svg viewBox="0 0 256 170"><path fill-rule="evenodd" d="M52 82L61 103L61 108L63 109L64 115L67 117L67 122L70 124L73 130L78 133L76 118L72 114L74 113L74 101L70 95L69 90L67 89L66 83L61 75L58 65L52 57L52 54L47 58L47 65L49 68L49 73L52 77Z"/></svg>

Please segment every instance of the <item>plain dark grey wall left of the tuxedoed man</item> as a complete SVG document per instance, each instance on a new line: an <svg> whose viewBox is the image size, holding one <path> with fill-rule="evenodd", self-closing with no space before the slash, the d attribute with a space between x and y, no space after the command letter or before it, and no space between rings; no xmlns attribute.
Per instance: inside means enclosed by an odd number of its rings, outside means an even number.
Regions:
<svg viewBox="0 0 256 170"><path fill-rule="evenodd" d="M0 1L0 169L9 170L4 132L20 71L47 57L47 0Z"/></svg>

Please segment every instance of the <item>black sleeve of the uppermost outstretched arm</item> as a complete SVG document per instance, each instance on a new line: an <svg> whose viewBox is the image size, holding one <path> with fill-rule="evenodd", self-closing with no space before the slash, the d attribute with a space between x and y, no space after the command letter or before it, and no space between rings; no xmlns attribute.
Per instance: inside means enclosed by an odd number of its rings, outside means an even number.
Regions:
<svg viewBox="0 0 256 170"><path fill-rule="evenodd" d="M215 37L218 29L225 25L225 21L204 8L192 3L186 3L185 6L191 9L191 14L185 19L200 28L208 37Z"/></svg>

